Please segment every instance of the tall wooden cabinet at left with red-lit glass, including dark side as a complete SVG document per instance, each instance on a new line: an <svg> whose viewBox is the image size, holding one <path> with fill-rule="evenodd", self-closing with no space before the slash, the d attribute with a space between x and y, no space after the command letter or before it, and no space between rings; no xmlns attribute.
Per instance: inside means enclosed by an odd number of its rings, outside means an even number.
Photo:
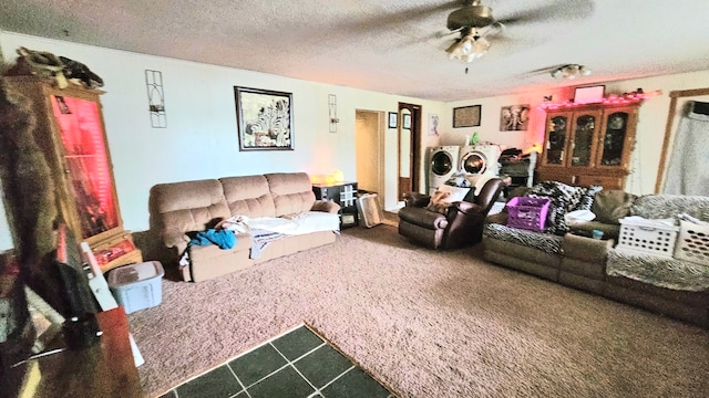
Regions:
<svg viewBox="0 0 709 398"><path fill-rule="evenodd" d="M2 84L21 117L3 132L3 191L13 238L37 248L49 222L64 222L90 244L101 270L141 262L123 220L113 178L100 95L53 80L7 76ZM53 243L53 242L52 242ZM47 245L47 244L45 244ZM42 254L42 253L40 253Z"/></svg>

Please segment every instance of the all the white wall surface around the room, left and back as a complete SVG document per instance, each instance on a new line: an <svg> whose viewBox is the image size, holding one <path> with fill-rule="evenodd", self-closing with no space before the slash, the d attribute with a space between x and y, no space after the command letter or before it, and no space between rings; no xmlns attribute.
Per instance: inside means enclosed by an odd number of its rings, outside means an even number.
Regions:
<svg viewBox="0 0 709 398"><path fill-rule="evenodd" d="M109 146L113 160L119 201L127 230L148 227L147 196L158 182L199 178L217 178L269 171L306 171L329 174L342 170L347 180L357 180L354 155L356 109L395 112L399 102L422 106L422 159L433 145L461 145L463 136L479 132L481 139L507 147L527 147L542 142L544 113L536 109L544 95L554 101L573 97L573 88L532 92L455 103L438 103L340 86L227 69L194 62L143 55L124 51L81 45L0 31L0 53L6 62L16 57L14 50L27 46L50 51L81 61L103 77L102 96ZM167 128L152 128L147 112L145 70L163 73ZM658 169L665 124L669 108L668 94L674 90L709 86L709 71L650 78L610 82L607 93L623 93L643 87L661 90L662 95L647 101L640 108L637 161L628 178L628 190L653 192ZM238 150L234 86L277 90L294 94L292 151ZM329 133L328 95L337 95L337 133ZM452 109L482 105L480 127L452 128ZM500 108L530 104L533 113L530 128L500 132ZM440 116L440 135L427 133L430 114ZM397 134L387 129L384 137L384 208L397 203ZM425 180L425 161L421 166ZM0 203L0 250L13 247L4 208Z"/></svg>

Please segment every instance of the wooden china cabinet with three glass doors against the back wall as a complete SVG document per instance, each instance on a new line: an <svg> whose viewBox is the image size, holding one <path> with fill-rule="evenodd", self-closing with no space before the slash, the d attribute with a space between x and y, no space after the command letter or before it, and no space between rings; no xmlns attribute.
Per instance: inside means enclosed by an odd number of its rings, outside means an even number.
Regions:
<svg viewBox="0 0 709 398"><path fill-rule="evenodd" d="M537 179L624 189L638 107L594 104L547 112Z"/></svg>

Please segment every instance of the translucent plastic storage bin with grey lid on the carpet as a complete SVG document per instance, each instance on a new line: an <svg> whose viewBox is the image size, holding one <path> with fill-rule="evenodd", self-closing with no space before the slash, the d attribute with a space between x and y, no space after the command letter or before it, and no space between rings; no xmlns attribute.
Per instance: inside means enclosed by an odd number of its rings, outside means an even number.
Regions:
<svg viewBox="0 0 709 398"><path fill-rule="evenodd" d="M158 305L163 300L163 275L160 261L119 266L109 272L109 289L125 313Z"/></svg>

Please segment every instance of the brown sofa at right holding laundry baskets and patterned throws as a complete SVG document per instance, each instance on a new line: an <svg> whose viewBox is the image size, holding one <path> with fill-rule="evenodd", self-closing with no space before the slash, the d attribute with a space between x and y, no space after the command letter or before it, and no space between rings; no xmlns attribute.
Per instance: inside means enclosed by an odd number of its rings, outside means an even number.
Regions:
<svg viewBox="0 0 709 398"><path fill-rule="evenodd" d="M684 212L709 221L709 198L604 190L595 196L592 211L602 220L574 224L563 234L506 227L506 209L490 216L483 233L485 260L709 327L709 266L616 247L623 217L661 219ZM609 239L585 237L592 229Z"/></svg>

